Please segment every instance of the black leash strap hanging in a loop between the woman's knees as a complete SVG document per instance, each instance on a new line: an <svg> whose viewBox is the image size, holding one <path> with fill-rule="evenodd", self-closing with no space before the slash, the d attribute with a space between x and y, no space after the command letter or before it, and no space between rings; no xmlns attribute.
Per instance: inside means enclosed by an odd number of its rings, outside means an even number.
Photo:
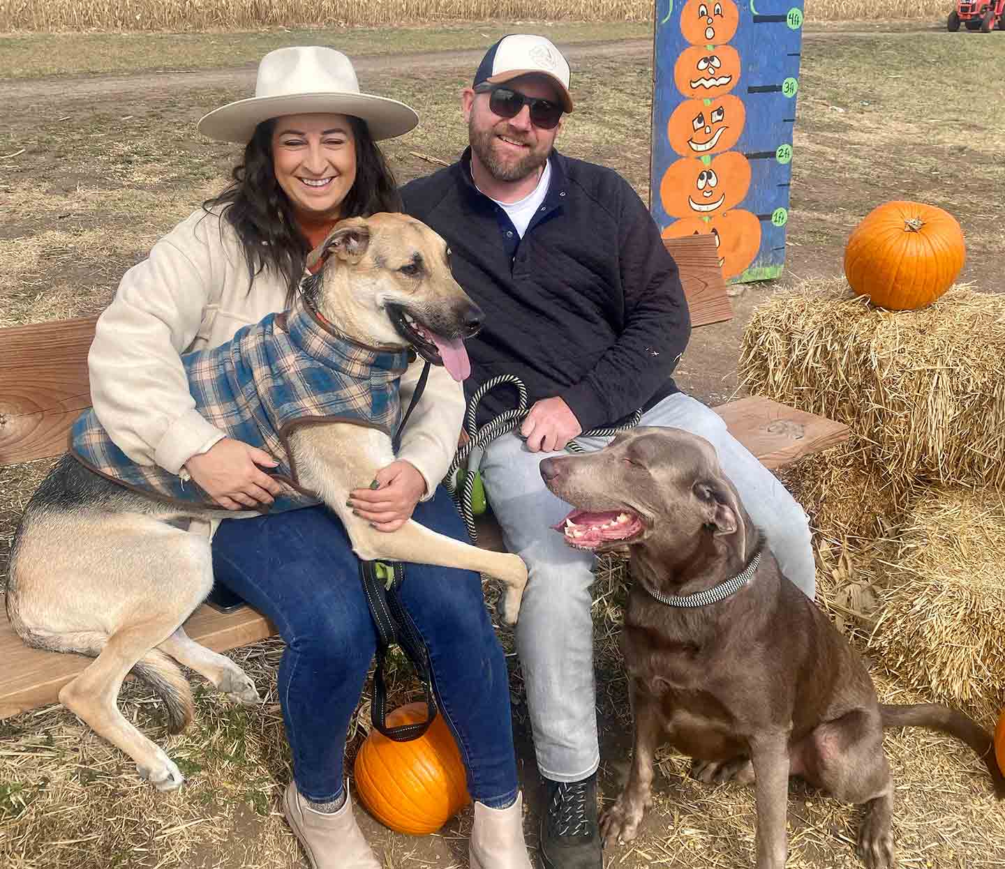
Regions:
<svg viewBox="0 0 1005 869"><path fill-rule="evenodd" d="M436 717L436 700L433 697L432 668L429 653L412 624L398 596L398 589L405 580L405 568L400 562L360 562L363 591L370 605L370 615L377 625L377 667L374 670L374 696L370 703L370 720L389 739L407 742L417 739L429 728ZM387 724L387 685L384 682L384 662L387 650L395 643L411 661L426 694L426 720L413 724Z"/></svg>

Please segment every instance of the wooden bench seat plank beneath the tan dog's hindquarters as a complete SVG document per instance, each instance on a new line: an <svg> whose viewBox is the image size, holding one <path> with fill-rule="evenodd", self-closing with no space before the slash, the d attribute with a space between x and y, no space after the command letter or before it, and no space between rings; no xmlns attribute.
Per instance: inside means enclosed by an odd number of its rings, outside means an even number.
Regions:
<svg viewBox="0 0 1005 869"><path fill-rule="evenodd" d="M30 649L14 633L0 608L0 719L9 718L57 699L59 689L79 673L89 658ZM255 643L275 633L264 616L250 607L224 614L207 606L196 610L185 623L188 635L216 652Z"/></svg>

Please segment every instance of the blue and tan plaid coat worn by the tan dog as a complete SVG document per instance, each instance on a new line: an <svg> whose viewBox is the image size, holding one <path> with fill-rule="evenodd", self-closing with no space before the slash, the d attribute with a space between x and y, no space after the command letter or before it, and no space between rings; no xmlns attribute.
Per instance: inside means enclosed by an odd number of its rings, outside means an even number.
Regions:
<svg viewBox="0 0 1005 869"><path fill-rule="evenodd" d="M263 511L319 503L300 487L287 438L304 423L346 422L394 434L407 351L356 344L323 322L297 297L286 313L246 325L226 344L182 357L196 410L228 437L269 453L285 491ZM157 465L140 465L117 447L85 411L70 433L70 452L84 466L144 494L217 506L195 482Z"/></svg>

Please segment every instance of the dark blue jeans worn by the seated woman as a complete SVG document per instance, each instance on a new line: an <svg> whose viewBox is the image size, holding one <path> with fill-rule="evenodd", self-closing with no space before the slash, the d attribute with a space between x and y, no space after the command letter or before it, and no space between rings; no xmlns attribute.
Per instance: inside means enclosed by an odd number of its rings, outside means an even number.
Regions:
<svg viewBox="0 0 1005 869"><path fill-rule="evenodd" d="M413 517L466 539L442 488ZM342 522L324 506L226 519L213 537L213 571L286 642L278 694L297 789L315 802L339 799L346 732L377 647ZM437 705L457 739L471 797L508 806L518 789L510 684L478 575L408 564L401 600L429 651Z"/></svg>

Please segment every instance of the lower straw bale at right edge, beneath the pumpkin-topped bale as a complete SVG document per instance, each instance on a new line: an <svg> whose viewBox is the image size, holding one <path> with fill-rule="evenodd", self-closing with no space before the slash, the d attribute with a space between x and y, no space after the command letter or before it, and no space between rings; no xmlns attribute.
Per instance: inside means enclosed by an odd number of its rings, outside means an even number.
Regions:
<svg viewBox="0 0 1005 869"><path fill-rule="evenodd" d="M886 565L869 640L912 688L985 720L1005 703L1003 552L1000 492L925 492Z"/></svg>

